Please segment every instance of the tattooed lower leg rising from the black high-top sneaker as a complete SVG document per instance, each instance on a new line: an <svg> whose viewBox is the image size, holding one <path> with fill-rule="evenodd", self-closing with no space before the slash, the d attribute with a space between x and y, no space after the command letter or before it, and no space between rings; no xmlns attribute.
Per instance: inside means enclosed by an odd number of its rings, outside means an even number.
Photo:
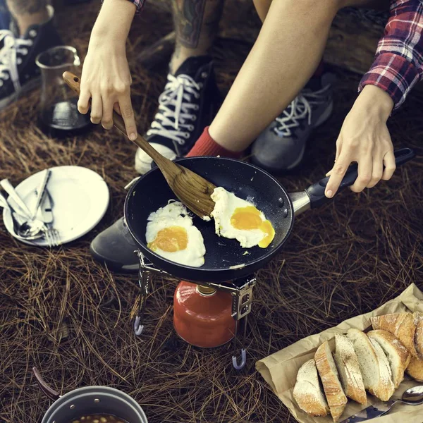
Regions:
<svg viewBox="0 0 423 423"><path fill-rule="evenodd" d="M173 0L176 47L171 72L191 56L207 54L214 42L223 10L223 0Z"/></svg>

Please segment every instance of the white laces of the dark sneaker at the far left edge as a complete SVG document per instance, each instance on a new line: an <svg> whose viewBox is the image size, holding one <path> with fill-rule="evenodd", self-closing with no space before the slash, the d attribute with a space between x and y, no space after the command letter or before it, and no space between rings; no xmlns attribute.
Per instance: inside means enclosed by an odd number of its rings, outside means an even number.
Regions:
<svg viewBox="0 0 423 423"><path fill-rule="evenodd" d="M25 56L28 49L32 46L31 39L17 38L13 32L9 30L0 30L0 42L4 42L3 48L0 50L0 87L4 80L11 78L15 90L20 89L18 65L22 63L22 59L18 55Z"/></svg>

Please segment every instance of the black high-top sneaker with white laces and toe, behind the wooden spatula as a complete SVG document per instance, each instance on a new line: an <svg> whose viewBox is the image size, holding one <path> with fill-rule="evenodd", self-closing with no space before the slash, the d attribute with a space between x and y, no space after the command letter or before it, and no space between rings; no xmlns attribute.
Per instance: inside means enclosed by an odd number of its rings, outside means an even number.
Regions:
<svg viewBox="0 0 423 423"><path fill-rule="evenodd" d="M145 139L170 160L187 154L202 131L212 123L220 106L219 89L210 56L185 60L159 97L159 110ZM135 155L135 169L144 174L152 159L142 149Z"/></svg>

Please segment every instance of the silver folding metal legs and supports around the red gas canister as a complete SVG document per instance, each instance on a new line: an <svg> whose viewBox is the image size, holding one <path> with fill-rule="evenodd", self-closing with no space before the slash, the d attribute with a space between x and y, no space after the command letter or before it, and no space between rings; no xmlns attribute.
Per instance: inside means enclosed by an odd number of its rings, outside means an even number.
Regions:
<svg viewBox="0 0 423 423"><path fill-rule="evenodd" d="M169 275L166 271L158 269L152 262L142 254L140 250L135 251L140 259L140 272L138 282L140 284L140 300L138 301L137 315L134 321L134 332L136 336L140 336L144 330L144 312L146 307L147 294L152 282L154 274ZM190 281L197 285L207 286L212 289L222 290L231 293L232 296L232 317L235 320L235 333L233 336L233 349L232 364L235 369L240 370L245 367L247 362L247 353L245 350L245 338L247 333L247 317L251 312L252 306L252 289L255 287L256 279L254 275L245 276L243 278L228 281L227 283L212 283L212 282L199 282ZM243 336L238 340L238 321L244 319ZM237 350L238 342L241 344L240 350L240 363L238 364Z"/></svg>

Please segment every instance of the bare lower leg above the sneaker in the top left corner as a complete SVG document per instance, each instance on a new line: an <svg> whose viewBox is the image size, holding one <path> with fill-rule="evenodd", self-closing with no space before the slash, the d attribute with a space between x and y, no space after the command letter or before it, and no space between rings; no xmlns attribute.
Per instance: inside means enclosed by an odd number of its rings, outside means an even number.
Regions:
<svg viewBox="0 0 423 423"><path fill-rule="evenodd" d="M20 35L24 35L28 27L47 22L47 0L7 0L11 15L18 24Z"/></svg>

